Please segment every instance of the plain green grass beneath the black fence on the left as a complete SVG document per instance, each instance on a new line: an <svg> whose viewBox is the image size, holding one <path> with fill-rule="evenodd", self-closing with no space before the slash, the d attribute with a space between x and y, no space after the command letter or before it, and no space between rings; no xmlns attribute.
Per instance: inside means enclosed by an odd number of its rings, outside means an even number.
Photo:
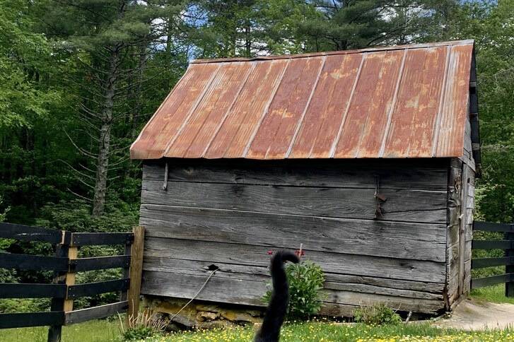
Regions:
<svg viewBox="0 0 514 342"><path fill-rule="evenodd" d="M1 342L46 342L47 326L34 328L0 329ZM112 342L119 341L117 320L90 321L82 324L63 326L63 342Z"/></svg>

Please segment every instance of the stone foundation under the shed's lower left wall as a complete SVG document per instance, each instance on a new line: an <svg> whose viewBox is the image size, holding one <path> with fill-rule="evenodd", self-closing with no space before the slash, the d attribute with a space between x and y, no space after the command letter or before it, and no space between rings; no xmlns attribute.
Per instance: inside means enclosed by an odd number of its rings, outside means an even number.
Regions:
<svg viewBox="0 0 514 342"><path fill-rule="evenodd" d="M144 297L146 307L171 319L189 300L167 297ZM193 301L170 322L169 329L212 329L262 322L264 310L238 305L218 305Z"/></svg>

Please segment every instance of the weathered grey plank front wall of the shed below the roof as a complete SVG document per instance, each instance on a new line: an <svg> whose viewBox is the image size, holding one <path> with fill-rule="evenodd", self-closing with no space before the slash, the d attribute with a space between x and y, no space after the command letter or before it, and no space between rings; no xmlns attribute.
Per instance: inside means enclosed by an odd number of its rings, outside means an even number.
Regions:
<svg viewBox="0 0 514 342"><path fill-rule="evenodd" d="M383 216L375 220L375 175ZM386 302L445 307L447 160L169 160L146 163L142 293L262 306L268 250L298 249L326 275L326 314Z"/></svg>

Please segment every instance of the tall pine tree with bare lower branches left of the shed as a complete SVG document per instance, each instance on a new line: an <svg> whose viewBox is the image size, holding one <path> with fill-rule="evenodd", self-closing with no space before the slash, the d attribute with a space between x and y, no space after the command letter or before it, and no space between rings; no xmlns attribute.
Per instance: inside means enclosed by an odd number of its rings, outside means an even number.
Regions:
<svg viewBox="0 0 514 342"><path fill-rule="evenodd" d="M164 24L182 8L182 1L141 0L59 0L45 8L49 32L76 61L67 77L77 89L82 127L69 138L88 162L70 166L93 193L93 216L104 212L109 172L127 160L128 146L120 144L127 141L116 139L119 125L128 118L134 131L147 62L168 34ZM119 158L110 163L113 156Z"/></svg>

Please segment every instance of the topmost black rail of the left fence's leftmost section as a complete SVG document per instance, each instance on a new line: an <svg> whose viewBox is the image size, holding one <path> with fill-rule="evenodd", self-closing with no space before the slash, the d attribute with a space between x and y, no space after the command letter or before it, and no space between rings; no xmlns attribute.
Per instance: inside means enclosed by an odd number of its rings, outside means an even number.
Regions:
<svg viewBox="0 0 514 342"><path fill-rule="evenodd" d="M32 227L30 225L16 225L13 223L0 223L0 238L21 241L41 241L52 244L61 243L62 231L48 228Z"/></svg>

